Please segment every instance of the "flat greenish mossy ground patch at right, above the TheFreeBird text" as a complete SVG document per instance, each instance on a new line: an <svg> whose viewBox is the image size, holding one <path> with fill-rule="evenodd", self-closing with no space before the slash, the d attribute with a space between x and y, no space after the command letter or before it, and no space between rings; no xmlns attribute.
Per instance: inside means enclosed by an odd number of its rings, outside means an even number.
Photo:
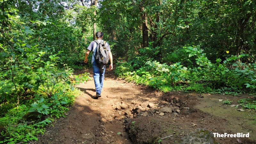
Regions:
<svg viewBox="0 0 256 144"><path fill-rule="evenodd" d="M205 98L200 99L200 102L195 105L196 109L207 112L215 117L223 117L226 119L226 124L229 130L234 133L250 133L250 138L256 140L256 113L255 110L238 111L230 105L224 105L219 102L219 99L229 99L238 105L238 100L248 97L242 96L227 96L227 95L205 95ZM224 125L224 124L223 124Z"/></svg>

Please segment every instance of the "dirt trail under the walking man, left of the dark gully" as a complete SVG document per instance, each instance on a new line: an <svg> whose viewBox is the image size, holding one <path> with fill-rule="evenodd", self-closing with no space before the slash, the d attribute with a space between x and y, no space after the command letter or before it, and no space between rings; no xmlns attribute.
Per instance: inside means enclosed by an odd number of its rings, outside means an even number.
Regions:
<svg viewBox="0 0 256 144"><path fill-rule="evenodd" d="M90 77L92 78L92 71ZM83 73L83 72L78 72ZM92 78L93 79L93 78ZM106 71L102 96L95 95L93 80L77 86L83 94L76 98L67 117L58 120L54 127L48 127L39 143L132 143L124 132L123 115L113 106L126 102L133 105L138 99L147 100L145 88L137 87L124 80L116 80L112 72ZM151 90L153 92L153 90ZM113 105L113 106L112 106ZM119 115L120 113L120 115ZM120 135L117 133L121 132ZM102 135L105 134L105 135Z"/></svg>

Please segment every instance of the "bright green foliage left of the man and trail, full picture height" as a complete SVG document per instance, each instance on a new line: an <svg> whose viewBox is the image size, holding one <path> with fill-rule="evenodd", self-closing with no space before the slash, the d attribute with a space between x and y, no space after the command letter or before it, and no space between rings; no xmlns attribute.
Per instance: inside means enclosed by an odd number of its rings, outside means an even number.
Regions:
<svg viewBox="0 0 256 144"><path fill-rule="evenodd" d="M80 12L68 1L0 2L0 126L7 131L0 143L37 140L45 125L65 116L79 94L74 86L89 79L89 73L73 76L70 67L84 66L90 27L77 26L90 18L70 23L62 3Z"/></svg>

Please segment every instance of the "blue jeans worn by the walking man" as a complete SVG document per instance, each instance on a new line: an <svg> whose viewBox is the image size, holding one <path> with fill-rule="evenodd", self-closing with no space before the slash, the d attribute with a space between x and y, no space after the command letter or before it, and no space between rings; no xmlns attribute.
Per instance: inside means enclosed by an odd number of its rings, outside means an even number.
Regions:
<svg viewBox="0 0 256 144"><path fill-rule="evenodd" d="M103 80L104 80L106 65L99 67L96 64L96 62L94 61L92 63L92 69L93 69L93 79L94 79L94 84L95 84L95 91L96 91L96 94L100 95L102 87L103 87Z"/></svg>

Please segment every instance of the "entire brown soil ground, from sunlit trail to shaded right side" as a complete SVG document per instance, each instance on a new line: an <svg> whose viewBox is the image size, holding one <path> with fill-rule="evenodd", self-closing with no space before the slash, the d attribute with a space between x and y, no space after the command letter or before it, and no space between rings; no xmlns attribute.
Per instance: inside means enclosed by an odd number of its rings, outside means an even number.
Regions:
<svg viewBox="0 0 256 144"><path fill-rule="evenodd" d="M243 143L256 143L255 111L241 112L219 102L219 99L237 102L246 95L234 97L205 94L202 97L194 93L162 93L117 79L109 71L106 71L102 96L98 100L92 99L95 95L93 80L77 87L83 94L76 98L67 117L47 127L46 133L36 143L158 143L161 138L173 135L162 140L162 143L169 144L177 142L196 128L205 128L213 133L249 132L250 139L239 140ZM155 106L146 108L148 102ZM126 108L116 110L122 103ZM145 110L137 113L138 105ZM162 107L172 108L173 112L160 116L156 111ZM177 109L180 113L176 112ZM147 112L146 116L140 116L144 112ZM223 144L239 143L237 138L216 138L216 141Z"/></svg>

